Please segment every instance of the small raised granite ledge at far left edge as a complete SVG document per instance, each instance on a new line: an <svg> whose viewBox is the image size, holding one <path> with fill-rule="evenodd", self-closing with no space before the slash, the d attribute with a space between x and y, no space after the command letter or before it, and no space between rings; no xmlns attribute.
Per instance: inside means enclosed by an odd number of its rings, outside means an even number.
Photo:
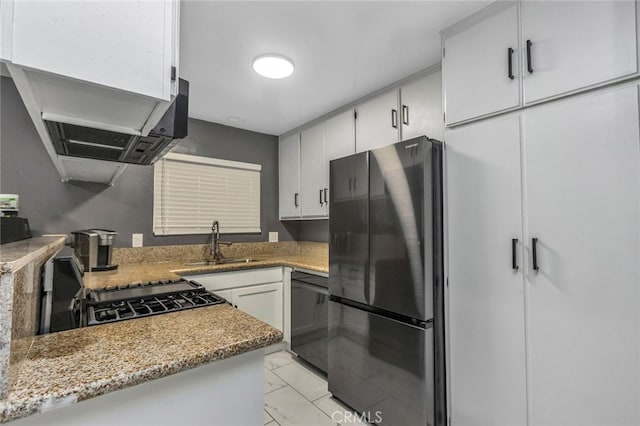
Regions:
<svg viewBox="0 0 640 426"><path fill-rule="evenodd" d="M65 237L37 237L0 246L0 272L15 272L44 254L64 247Z"/></svg>

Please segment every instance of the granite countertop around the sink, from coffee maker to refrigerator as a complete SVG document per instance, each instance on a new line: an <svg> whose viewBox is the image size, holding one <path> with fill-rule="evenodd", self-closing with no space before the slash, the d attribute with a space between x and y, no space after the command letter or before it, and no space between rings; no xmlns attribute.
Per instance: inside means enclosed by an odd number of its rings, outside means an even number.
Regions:
<svg viewBox="0 0 640 426"><path fill-rule="evenodd" d="M175 280L189 274L238 271L243 269L266 268L269 266L289 266L321 273L329 272L326 257L301 254L251 256L257 259L248 263L228 263L221 265L186 266L188 262L159 262L120 265L114 271L87 272L84 275L86 288L115 287L139 282Z"/></svg>

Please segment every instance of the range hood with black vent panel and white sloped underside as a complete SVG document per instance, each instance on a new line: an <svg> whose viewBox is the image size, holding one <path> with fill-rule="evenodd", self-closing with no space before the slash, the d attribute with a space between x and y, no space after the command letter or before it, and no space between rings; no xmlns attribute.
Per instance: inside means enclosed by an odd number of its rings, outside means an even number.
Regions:
<svg viewBox="0 0 640 426"><path fill-rule="evenodd" d="M60 180L113 185L187 134L189 83L167 99L5 63Z"/></svg>

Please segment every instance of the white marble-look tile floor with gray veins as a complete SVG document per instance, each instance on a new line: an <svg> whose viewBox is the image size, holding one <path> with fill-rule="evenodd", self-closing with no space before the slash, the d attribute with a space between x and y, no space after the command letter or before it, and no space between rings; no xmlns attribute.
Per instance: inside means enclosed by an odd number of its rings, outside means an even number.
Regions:
<svg viewBox="0 0 640 426"><path fill-rule="evenodd" d="M331 397L326 378L289 352L266 355L264 376L265 425L366 425Z"/></svg>

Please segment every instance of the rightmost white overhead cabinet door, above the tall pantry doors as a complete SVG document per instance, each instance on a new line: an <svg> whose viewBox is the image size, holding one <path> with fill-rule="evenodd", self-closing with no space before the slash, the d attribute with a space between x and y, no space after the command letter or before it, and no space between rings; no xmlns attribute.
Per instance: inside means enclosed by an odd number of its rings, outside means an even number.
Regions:
<svg viewBox="0 0 640 426"><path fill-rule="evenodd" d="M636 7L633 1L523 2L525 103L637 72Z"/></svg>

